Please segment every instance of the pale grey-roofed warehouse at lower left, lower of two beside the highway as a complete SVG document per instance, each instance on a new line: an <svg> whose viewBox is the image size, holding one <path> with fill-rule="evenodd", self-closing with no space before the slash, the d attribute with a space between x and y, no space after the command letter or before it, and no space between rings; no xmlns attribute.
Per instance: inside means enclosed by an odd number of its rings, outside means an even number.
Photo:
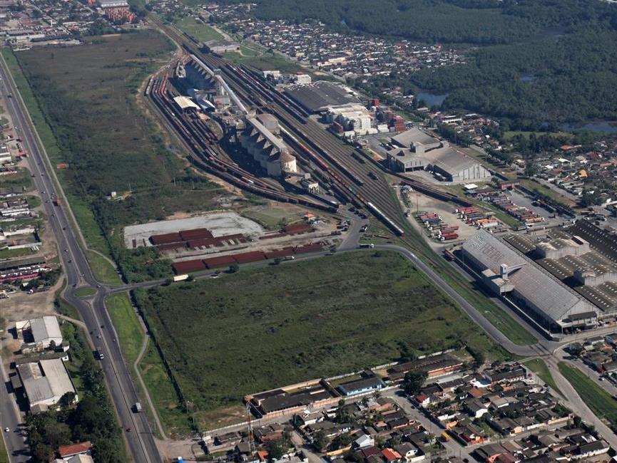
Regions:
<svg viewBox="0 0 617 463"><path fill-rule="evenodd" d="M21 363L16 368L21 383L24 385L30 409L33 411L44 411L57 405L66 392L76 394L75 387L60 358ZM77 395L75 400L77 400Z"/></svg>

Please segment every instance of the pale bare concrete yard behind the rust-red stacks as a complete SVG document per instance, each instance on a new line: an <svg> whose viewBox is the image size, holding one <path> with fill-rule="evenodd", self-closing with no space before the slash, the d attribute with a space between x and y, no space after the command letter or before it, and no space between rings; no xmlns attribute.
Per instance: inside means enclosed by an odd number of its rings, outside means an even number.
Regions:
<svg viewBox="0 0 617 463"><path fill-rule="evenodd" d="M188 219L162 220L148 224L129 225L124 228L124 244L128 249L133 248L133 239L137 246L151 246L148 241L151 235L173 233L196 228L207 228L214 236L242 233L256 237L264 234L265 230L257 222L236 214L235 212L215 212Z"/></svg>

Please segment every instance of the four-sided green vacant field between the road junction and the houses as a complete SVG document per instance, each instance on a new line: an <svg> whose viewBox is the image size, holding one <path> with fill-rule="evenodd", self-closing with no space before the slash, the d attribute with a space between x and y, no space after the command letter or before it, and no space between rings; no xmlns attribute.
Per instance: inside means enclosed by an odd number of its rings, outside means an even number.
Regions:
<svg viewBox="0 0 617 463"><path fill-rule="evenodd" d="M355 252L136 293L185 398L242 395L430 353L502 355L407 260Z"/></svg>

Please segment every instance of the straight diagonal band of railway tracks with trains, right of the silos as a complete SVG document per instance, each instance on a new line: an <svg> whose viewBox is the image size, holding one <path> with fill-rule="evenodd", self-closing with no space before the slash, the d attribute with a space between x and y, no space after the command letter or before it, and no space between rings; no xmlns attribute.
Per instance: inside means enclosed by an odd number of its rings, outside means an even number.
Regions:
<svg viewBox="0 0 617 463"><path fill-rule="evenodd" d="M389 186L388 177L396 177L401 184L407 184L417 191L438 199L468 204L454 194L442 192L434 187L389 172L379 162L368 157L355 147L344 144L338 137L324 130L318 123L307 118L305 110L294 101L273 89L243 66L233 66L218 56L201 53L198 43L186 33L160 25L185 51L212 69L220 69L230 88L260 112L273 113L287 127L287 142L306 161L317 165L316 176L330 184L337 197L357 207L366 207L398 235L409 229L402 214L398 199Z"/></svg>

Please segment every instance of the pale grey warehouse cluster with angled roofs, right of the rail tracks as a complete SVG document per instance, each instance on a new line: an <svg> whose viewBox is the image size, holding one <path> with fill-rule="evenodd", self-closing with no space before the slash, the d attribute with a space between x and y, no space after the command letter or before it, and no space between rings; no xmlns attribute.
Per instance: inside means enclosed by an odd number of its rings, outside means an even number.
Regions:
<svg viewBox="0 0 617 463"><path fill-rule="evenodd" d="M394 172L429 170L439 180L467 182L488 180L491 172L477 160L449 145L445 140L411 128L392 137L392 145L399 147L394 154L388 153L388 164Z"/></svg>

